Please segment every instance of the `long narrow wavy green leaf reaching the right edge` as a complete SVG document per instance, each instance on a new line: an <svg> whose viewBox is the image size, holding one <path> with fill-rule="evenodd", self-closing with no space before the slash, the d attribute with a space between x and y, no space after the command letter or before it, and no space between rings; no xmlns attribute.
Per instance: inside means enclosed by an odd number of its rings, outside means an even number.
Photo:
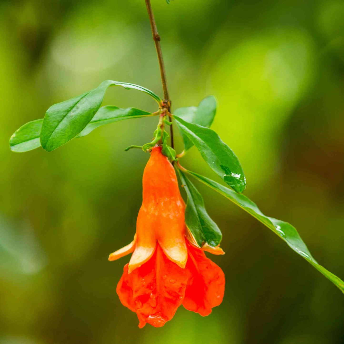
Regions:
<svg viewBox="0 0 344 344"><path fill-rule="evenodd" d="M288 246L294 250L297 254L307 260L315 269L320 271L326 278L328 278L332 283L334 283L343 293L344 293L344 282L333 275L330 271L326 270L323 266L319 265L318 262L312 257L307 246L301 239L299 233L291 224L278 220L273 217L265 216L257 207L257 205L252 202L249 198L244 195L235 193L234 191L228 189L228 187L223 186L209 178L201 176L197 173L183 170L183 172L192 175L194 178L202 182L203 184L211 187L213 190L219 194L225 196L230 201L235 203L240 208L243 208L250 215L255 217L265 226L270 228L273 233L277 234L282 240L284 240Z"/></svg>

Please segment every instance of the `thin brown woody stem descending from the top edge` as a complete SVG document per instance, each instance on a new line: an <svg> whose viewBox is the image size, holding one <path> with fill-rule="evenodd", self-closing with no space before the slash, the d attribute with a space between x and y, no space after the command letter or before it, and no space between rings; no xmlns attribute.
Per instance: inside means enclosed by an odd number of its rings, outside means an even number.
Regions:
<svg viewBox="0 0 344 344"><path fill-rule="evenodd" d="M170 116L170 114L171 114L171 101L170 101L169 92L167 89L166 72L165 72L164 60L162 57L162 51L161 51L161 45L160 45L160 36L158 33L157 24L155 23L155 19L154 19L153 10L152 10L150 0L145 0L145 1L146 1L146 6L147 6L149 21L150 21L151 28L152 28L152 34L153 34L153 40L155 43L155 49L157 50L157 54L158 54L162 90L164 92L164 104L163 105L165 105L165 107L168 108L169 121L172 122L172 118ZM170 137L171 137L171 147L174 148L172 125L170 126Z"/></svg>

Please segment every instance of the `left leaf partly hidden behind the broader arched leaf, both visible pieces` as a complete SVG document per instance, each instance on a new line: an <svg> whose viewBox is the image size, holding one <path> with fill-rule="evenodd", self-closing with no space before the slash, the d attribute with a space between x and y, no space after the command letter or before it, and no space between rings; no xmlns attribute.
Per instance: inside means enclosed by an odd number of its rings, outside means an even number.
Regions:
<svg viewBox="0 0 344 344"><path fill-rule="evenodd" d="M121 109L117 106L103 106L94 115L85 129L76 137L88 135L94 129L122 119L154 116L151 112L136 108ZM27 152L41 147L40 133L43 118L28 122L20 127L10 138L10 149L14 152Z"/></svg>

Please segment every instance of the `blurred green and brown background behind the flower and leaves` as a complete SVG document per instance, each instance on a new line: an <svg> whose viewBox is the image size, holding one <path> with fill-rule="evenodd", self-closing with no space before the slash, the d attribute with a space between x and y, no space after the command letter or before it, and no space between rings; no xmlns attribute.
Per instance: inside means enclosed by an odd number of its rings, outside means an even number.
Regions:
<svg viewBox="0 0 344 344"><path fill-rule="evenodd" d="M213 129L239 157L245 194L292 223L344 278L344 1L152 0L173 108L218 98ZM143 0L0 2L0 343L344 343L344 295L283 241L196 184L222 229L226 274L210 316L182 307L137 327L116 284L141 205L157 119L114 123L52 153L8 140L52 104L105 79L160 94ZM110 88L104 104L157 110ZM180 138L177 151L182 150ZM182 164L215 180L193 148Z"/></svg>

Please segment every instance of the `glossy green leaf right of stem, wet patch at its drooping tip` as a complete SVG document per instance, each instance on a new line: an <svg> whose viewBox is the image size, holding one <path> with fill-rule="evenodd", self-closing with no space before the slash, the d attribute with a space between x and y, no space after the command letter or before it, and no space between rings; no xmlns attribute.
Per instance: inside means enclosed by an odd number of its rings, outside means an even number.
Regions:
<svg viewBox="0 0 344 344"><path fill-rule="evenodd" d="M206 163L232 187L241 193L246 187L246 178L240 162L232 149L217 133L209 128L184 121L173 115L179 129L194 143Z"/></svg>

